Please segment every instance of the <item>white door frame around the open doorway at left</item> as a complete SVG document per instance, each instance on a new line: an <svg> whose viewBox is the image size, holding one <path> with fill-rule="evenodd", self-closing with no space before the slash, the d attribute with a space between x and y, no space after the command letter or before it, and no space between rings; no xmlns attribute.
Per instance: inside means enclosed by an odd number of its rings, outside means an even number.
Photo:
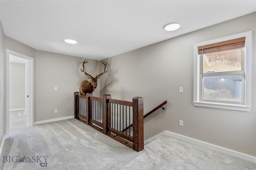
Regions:
<svg viewBox="0 0 256 170"><path fill-rule="evenodd" d="M26 96L28 95L27 106L26 109L29 109L29 122L28 125L32 126L34 123L34 59L32 57L28 57L26 55L22 55L20 53L16 53L14 51L8 50L6 51L6 129L7 135L9 135L9 55L14 55L17 57L21 57L23 59L27 59L28 62L26 64ZM28 107L28 108L27 108Z"/></svg>

